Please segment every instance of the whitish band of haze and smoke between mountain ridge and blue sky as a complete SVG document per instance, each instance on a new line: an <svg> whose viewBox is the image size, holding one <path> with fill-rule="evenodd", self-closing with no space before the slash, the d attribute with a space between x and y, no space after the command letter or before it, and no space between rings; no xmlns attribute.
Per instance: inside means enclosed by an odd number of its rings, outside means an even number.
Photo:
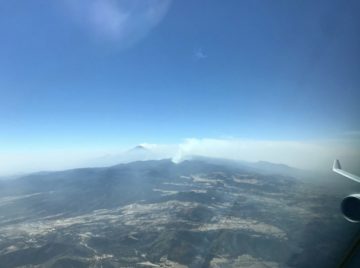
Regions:
<svg viewBox="0 0 360 268"><path fill-rule="evenodd" d="M137 145L143 146L146 150L132 151ZM0 176L106 167L141 160L172 159L178 163L190 156L248 162L267 161L317 172L329 172L333 160L340 159L348 170L360 171L360 144L356 138L324 141L191 138L179 144L139 143L113 149L58 149L5 154L0 156Z"/></svg>

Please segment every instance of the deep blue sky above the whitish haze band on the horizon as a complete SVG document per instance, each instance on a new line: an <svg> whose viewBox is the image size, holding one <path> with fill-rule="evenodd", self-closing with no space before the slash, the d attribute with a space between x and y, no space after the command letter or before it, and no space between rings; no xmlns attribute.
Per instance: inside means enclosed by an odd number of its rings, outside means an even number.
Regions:
<svg viewBox="0 0 360 268"><path fill-rule="evenodd" d="M359 1L130 2L1 1L3 150L360 129Z"/></svg>

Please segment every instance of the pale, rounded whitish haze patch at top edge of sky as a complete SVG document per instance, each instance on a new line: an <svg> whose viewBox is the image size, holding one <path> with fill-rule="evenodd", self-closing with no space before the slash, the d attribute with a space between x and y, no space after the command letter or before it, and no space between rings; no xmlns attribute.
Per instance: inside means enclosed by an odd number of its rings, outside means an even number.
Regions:
<svg viewBox="0 0 360 268"><path fill-rule="evenodd" d="M128 46L166 15L171 0L68 0L73 18L96 35Z"/></svg>

